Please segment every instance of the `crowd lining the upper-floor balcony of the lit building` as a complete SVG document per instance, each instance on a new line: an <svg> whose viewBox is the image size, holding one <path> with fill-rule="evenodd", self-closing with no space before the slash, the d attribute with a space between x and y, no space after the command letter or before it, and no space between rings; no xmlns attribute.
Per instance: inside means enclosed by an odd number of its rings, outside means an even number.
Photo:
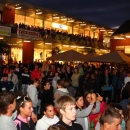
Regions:
<svg viewBox="0 0 130 130"><path fill-rule="evenodd" d="M50 29L50 28L26 25L24 23L19 23L19 24L10 23L9 24L5 22L0 22L0 25L11 27L12 33L17 33L17 29L21 28L21 29L39 32L40 37L45 38L45 39L50 38L50 39L55 39L55 40L69 40L70 42L75 42L75 43L83 44L83 45L98 44L97 38L85 36L83 33L69 34L67 31L59 31L58 29Z"/></svg>

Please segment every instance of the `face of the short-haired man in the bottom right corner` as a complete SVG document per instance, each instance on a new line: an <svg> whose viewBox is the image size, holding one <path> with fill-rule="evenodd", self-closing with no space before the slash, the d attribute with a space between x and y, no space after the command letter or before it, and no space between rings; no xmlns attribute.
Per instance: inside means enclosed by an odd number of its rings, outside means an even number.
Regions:
<svg viewBox="0 0 130 130"><path fill-rule="evenodd" d="M107 130L121 130L121 119L115 118L114 122L111 124L106 124Z"/></svg>

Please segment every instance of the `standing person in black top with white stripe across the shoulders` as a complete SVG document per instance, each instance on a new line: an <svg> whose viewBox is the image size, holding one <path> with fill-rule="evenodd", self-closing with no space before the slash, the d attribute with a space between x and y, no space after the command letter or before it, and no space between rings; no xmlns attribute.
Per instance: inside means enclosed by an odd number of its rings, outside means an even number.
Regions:
<svg viewBox="0 0 130 130"><path fill-rule="evenodd" d="M21 74L22 76L22 93L23 95L27 94L27 87L30 82L30 75L27 68L24 68L24 72Z"/></svg>

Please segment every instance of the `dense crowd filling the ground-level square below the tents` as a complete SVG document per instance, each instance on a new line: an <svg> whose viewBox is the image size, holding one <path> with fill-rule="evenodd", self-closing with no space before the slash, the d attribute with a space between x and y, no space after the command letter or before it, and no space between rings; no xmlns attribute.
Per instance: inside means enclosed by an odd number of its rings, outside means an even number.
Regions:
<svg viewBox="0 0 130 130"><path fill-rule="evenodd" d="M1 67L0 76L0 129L130 129L126 66L20 63Z"/></svg>

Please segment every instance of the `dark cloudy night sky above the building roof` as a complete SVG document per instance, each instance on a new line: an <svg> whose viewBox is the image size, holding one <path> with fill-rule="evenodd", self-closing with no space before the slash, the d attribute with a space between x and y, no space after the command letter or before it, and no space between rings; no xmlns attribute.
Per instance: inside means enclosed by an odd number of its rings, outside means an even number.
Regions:
<svg viewBox="0 0 130 130"><path fill-rule="evenodd" d="M107 27L130 19L130 0L23 0Z"/></svg>

